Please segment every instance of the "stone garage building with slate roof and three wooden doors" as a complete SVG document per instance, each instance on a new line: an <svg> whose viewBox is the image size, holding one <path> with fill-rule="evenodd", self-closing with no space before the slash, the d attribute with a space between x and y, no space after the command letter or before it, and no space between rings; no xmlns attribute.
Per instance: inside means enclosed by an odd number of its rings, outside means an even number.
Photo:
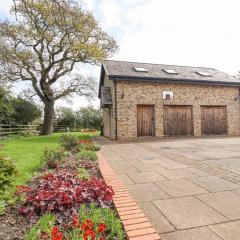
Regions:
<svg viewBox="0 0 240 240"><path fill-rule="evenodd" d="M104 61L103 134L139 137L240 135L240 81L213 68Z"/></svg>

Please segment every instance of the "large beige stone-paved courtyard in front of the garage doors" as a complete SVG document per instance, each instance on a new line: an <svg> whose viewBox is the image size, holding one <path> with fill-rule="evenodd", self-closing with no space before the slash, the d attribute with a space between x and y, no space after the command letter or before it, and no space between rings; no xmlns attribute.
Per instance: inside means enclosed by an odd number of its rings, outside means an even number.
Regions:
<svg viewBox="0 0 240 240"><path fill-rule="evenodd" d="M162 240L240 239L240 138L103 144Z"/></svg>

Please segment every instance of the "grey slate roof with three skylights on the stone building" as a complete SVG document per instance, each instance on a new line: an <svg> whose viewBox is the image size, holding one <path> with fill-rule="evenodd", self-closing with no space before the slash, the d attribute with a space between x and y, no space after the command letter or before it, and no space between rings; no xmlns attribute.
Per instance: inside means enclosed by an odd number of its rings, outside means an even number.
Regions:
<svg viewBox="0 0 240 240"><path fill-rule="evenodd" d="M240 80L214 68L164 65L139 62L106 60L103 68L110 79L198 83L213 85L240 86ZM135 67L145 68L148 72L136 72ZM167 74L164 69L175 70L178 74ZM211 76L201 76L196 71L207 72Z"/></svg>

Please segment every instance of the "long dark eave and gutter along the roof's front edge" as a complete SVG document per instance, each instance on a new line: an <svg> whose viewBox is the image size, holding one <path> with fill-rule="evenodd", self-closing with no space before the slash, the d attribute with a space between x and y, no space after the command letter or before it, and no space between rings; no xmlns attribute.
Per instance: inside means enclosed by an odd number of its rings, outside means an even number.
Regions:
<svg viewBox="0 0 240 240"><path fill-rule="evenodd" d="M240 87L240 82L223 82L223 81L210 81L210 80L192 80L192 79L167 79L167 78L153 78L153 77L136 77L136 76L123 76L123 75L108 75L110 80L127 80L138 82L158 82L158 83L190 83L200 85L214 85L214 86L230 86Z"/></svg>

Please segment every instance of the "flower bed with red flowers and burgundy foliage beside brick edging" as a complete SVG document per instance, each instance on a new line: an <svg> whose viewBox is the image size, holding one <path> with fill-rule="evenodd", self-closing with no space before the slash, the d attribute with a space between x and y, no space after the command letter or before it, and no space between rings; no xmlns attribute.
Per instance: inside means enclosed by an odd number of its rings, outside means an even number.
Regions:
<svg viewBox="0 0 240 240"><path fill-rule="evenodd" d="M16 203L0 217L0 239L126 239L113 207L114 192L99 172L99 147L71 134L60 145L46 149L41 171L27 186L17 187Z"/></svg>

